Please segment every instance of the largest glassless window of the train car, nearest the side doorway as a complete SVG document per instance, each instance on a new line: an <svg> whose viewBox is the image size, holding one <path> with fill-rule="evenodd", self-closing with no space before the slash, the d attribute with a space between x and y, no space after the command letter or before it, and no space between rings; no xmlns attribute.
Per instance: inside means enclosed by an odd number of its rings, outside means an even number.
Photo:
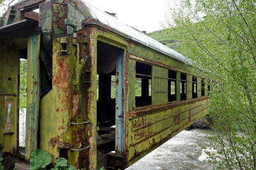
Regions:
<svg viewBox="0 0 256 170"><path fill-rule="evenodd" d="M152 103L151 98L152 66L142 62L136 62L135 79L135 106L147 106Z"/></svg>

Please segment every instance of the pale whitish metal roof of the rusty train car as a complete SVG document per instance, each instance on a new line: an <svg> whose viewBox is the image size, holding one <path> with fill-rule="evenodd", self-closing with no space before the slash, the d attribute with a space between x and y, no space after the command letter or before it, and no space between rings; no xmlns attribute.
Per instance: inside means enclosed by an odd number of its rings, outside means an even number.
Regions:
<svg viewBox="0 0 256 170"><path fill-rule="evenodd" d="M159 43L159 41L156 41L153 38L150 38L146 34L134 29L133 27L123 24L120 22L117 18L112 17L106 12L100 11L99 9L93 7L92 5L83 2L86 7L90 10L90 14L92 17L97 20L100 24L106 25L107 27L110 27L111 29L114 29L115 31L118 31L122 34L125 34L126 36L129 36L132 41L135 41L137 43L140 43L141 45L148 46L149 48L152 48L158 52L164 53L165 55L168 55L169 57L172 57L173 59L177 59L181 62L186 62L184 55L180 54L179 52L176 52L175 50L172 50L168 46L163 45L162 43Z"/></svg>

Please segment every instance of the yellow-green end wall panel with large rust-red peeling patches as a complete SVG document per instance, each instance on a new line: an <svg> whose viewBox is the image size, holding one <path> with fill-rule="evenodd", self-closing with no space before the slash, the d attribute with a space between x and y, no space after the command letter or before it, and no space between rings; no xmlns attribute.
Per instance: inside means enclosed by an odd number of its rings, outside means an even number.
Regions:
<svg viewBox="0 0 256 170"><path fill-rule="evenodd" d="M60 55L60 38L53 39L52 47L52 90L40 101L40 148L51 153L55 162L60 148L72 146L72 95L70 56Z"/></svg>

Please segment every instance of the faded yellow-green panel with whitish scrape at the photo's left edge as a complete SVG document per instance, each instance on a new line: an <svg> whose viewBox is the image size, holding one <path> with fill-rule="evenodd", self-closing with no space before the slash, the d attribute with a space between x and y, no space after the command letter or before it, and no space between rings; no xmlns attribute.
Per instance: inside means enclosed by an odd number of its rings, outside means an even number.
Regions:
<svg viewBox="0 0 256 170"><path fill-rule="evenodd" d="M17 150L18 50L10 41L0 43L0 145L2 152ZM14 149L14 150L13 150Z"/></svg>

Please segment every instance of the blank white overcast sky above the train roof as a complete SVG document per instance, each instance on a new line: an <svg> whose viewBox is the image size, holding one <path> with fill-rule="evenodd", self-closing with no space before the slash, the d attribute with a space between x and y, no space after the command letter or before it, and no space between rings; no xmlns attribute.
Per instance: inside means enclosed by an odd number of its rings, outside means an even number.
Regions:
<svg viewBox="0 0 256 170"><path fill-rule="evenodd" d="M165 15L170 13L170 0L83 0L101 11L116 13L118 20L140 31L157 31L163 29ZM12 4L17 3L13 1ZM11 4L11 5L12 5ZM0 8L0 13L3 10Z"/></svg>

